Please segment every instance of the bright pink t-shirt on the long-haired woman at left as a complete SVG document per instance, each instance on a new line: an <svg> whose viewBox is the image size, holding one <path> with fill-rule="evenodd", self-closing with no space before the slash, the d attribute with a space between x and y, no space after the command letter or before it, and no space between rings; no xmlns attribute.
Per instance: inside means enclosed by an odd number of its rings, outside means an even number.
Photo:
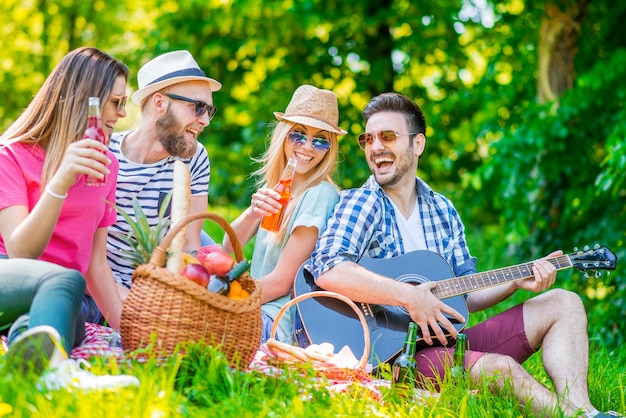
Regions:
<svg viewBox="0 0 626 418"><path fill-rule="evenodd" d="M39 145L15 143L0 150L0 210L22 205L32 211L42 194L41 173L45 151ZM70 187L56 228L41 260L85 273L89 267L96 229L108 227L116 219L115 187L118 162L107 153L111 164L104 186L85 185L84 176ZM111 202L111 204L107 203ZM0 254L6 255L0 236Z"/></svg>

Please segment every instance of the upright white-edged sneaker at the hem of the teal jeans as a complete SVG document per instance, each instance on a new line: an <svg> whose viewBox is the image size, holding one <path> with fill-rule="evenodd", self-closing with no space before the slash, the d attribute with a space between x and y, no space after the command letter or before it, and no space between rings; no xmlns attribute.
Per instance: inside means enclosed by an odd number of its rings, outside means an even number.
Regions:
<svg viewBox="0 0 626 418"><path fill-rule="evenodd" d="M40 376L46 369L67 360L59 332L48 325L39 325L18 335L9 346L7 365L28 376Z"/></svg>

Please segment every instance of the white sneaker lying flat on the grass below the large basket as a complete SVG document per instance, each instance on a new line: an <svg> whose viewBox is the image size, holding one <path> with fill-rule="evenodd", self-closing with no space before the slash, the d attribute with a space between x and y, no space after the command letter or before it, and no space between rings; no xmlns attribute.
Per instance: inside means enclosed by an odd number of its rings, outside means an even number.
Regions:
<svg viewBox="0 0 626 418"><path fill-rule="evenodd" d="M56 370L41 376L37 388L41 391L52 391L72 388L82 390L112 390L127 386L139 386L139 379L130 375L97 376L81 367L90 367L85 360L66 360Z"/></svg>

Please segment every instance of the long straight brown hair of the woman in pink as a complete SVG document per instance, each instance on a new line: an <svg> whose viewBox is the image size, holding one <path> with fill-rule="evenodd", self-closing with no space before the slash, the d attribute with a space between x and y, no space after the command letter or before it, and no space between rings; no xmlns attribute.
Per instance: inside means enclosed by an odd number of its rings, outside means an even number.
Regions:
<svg viewBox="0 0 626 418"><path fill-rule="evenodd" d="M46 151L41 185L59 169L69 145L83 138L87 102L104 104L117 77L128 79L128 68L92 47L70 51L50 73L17 120L0 136L0 149L16 142L37 144Z"/></svg>

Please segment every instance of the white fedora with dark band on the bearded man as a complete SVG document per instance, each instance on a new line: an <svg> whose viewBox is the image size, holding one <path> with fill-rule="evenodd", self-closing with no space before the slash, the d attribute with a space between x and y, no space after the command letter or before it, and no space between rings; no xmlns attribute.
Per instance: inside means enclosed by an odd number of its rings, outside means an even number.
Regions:
<svg viewBox="0 0 626 418"><path fill-rule="evenodd" d="M206 76L189 51L172 51L151 59L137 73L139 89L132 100L140 105L143 100L173 84L185 81L206 81L211 91L222 88L222 83Z"/></svg>

